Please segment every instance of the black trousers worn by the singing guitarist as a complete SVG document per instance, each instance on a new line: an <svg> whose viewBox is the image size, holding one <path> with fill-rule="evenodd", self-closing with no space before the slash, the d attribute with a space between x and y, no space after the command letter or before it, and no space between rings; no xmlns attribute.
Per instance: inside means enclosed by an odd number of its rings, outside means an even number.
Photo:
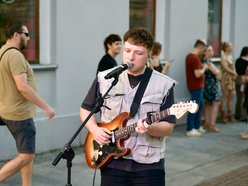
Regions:
<svg viewBox="0 0 248 186"><path fill-rule="evenodd" d="M153 169L127 172L118 169L101 169L101 186L165 186L165 171Z"/></svg>

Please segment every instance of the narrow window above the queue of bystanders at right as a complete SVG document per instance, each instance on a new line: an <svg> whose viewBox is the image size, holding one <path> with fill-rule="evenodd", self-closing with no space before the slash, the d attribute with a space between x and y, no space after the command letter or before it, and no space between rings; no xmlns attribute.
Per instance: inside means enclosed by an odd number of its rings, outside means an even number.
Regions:
<svg viewBox="0 0 248 186"><path fill-rule="evenodd" d="M214 48L214 54L221 54L221 14L222 0L208 0L208 43Z"/></svg>

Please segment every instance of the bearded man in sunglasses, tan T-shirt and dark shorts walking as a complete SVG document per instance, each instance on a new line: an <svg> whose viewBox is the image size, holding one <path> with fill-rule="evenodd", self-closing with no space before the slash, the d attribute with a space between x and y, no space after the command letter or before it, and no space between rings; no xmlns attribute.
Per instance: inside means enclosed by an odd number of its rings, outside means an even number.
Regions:
<svg viewBox="0 0 248 186"><path fill-rule="evenodd" d="M0 122L13 135L19 154L0 169L0 183L21 173L22 186L32 185L36 129L36 106L51 119L55 112L37 93L34 73L21 50L30 40L28 28L20 21L10 21L7 41L0 49Z"/></svg>

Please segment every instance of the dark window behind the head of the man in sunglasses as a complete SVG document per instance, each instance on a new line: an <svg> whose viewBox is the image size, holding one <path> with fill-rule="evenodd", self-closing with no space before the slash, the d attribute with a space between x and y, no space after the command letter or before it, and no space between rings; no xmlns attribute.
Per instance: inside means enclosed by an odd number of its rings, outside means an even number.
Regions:
<svg viewBox="0 0 248 186"><path fill-rule="evenodd" d="M0 0L0 46L5 41L4 28L16 18L27 24L30 32L28 48L23 53L30 63L39 63L39 0Z"/></svg>

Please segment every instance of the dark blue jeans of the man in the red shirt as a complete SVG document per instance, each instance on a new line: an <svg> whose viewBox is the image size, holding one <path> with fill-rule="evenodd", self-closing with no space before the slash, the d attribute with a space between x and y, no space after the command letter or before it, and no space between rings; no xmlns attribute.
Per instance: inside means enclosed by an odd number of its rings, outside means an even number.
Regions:
<svg viewBox="0 0 248 186"><path fill-rule="evenodd" d="M203 106L203 88L191 91L190 94L191 100L195 101L198 104L199 109L196 113L188 113L187 131L200 128L200 118Z"/></svg>

